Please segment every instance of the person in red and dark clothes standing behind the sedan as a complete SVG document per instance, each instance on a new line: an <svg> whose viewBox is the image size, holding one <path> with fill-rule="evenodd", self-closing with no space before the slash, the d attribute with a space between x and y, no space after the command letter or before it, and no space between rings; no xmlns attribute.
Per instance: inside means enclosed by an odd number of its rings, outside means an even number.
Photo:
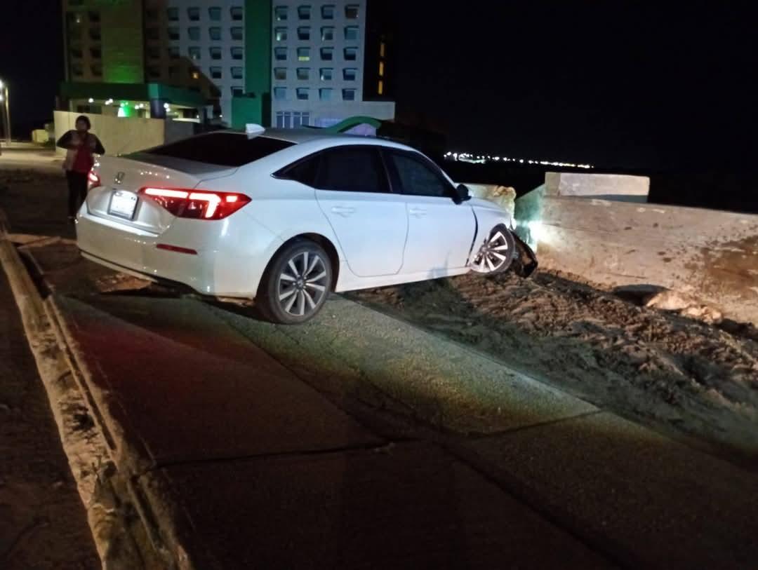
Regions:
<svg viewBox="0 0 758 570"><path fill-rule="evenodd" d="M105 154L102 143L89 132L92 126L86 116L80 115L74 124L76 130L68 131L57 143L59 147L66 149L63 168L68 181L68 221L71 223L87 197L87 175L95 164L95 157L92 155Z"/></svg>

